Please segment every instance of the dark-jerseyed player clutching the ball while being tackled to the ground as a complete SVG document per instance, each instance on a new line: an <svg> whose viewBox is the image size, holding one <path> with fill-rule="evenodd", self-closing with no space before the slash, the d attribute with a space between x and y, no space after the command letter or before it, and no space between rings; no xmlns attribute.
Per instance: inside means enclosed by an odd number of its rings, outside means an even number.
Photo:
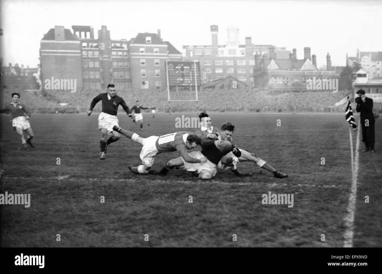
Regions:
<svg viewBox="0 0 382 274"><path fill-rule="evenodd" d="M203 116L208 117L208 116ZM207 119L208 120L208 119ZM207 121L206 120L206 121ZM222 140L227 139L226 136L232 136L233 130L235 129L235 126L233 126L230 122L226 122L222 124L220 127L221 132L220 136L222 137ZM202 158L206 157L207 161L204 163L189 163L186 162L185 159L182 157L172 159L170 161L167 161L165 166L160 171L161 175L166 175L166 173L170 170L173 170L174 167L184 167L188 171L197 171L197 174L199 174L199 178L201 179L211 179L216 175L216 166L220 168L229 168L233 173L235 173L236 176L244 177L244 176L252 176L251 173L241 173L240 171L236 170L236 166L233 166L233 160L231 157L225 157L225 154L222 153L219 149L220 140L213 140L211 138L208 138L204 131L202 132L195 132L195 135L202 135L201 140L201 151L193 151L189 154L196 158ZM216 135L214 135L216 137ZM235 144L232 144L232 150L231 152L235 157L240 157L241 152L235 147Z"/></svg>

